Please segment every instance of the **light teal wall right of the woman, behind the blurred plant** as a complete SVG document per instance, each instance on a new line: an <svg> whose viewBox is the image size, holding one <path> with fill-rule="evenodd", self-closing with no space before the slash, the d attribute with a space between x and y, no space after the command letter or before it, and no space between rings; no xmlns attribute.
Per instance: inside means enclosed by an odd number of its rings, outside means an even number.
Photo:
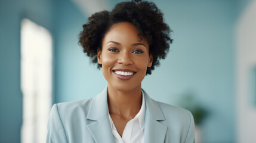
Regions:
<svg viewBox="0 0 256 143"><path fill-rule="evenodd" d="M144 80L144 88L156 100L177 105L181 95L192 92L208 111L203 142L235 142L235 3L157 4L174 30L174 44L161 67Z"/></svg>

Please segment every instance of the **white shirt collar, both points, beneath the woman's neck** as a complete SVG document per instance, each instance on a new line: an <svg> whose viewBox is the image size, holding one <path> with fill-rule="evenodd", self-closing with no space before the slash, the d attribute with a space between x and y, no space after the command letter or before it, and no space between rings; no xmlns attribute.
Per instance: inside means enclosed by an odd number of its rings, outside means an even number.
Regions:
<svg viewBox="0 0 256 143"><path fill-rule="evenodd" d="M140 107L140 111L138 111L137 115L134 117L132 120L138 119L138 123L140 123L140 129L144 130L144 120L145 120L145 112L146 112L146 105L145 105L145 97L144 97L144 91L142 91L142 104ZM109 113L109 110L108 110ZM109 114L109 121L110 121L110 126L112 130L115 128L115 125L113 125L113 120Z"/></svg>

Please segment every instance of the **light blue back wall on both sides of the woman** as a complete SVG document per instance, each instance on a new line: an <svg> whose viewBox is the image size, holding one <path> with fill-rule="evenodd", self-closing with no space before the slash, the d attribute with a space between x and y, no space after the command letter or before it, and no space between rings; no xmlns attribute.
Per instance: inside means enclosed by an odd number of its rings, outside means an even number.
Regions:
<svg viewBox="0 0 256 143"><path fill-rule="evenodd" d="M175 105L180 95L193 91L209 112L202 126L203 142L235 142L233 26L236 3L156 1L156 4L174 30L174 43L161 66L146 76L143 88L155 100ZM82 30L79 24L85 20L73 22L73 15L79 16L73 12L63 15L69 24L59 24L56 36L59 40L55 57L55 101L94 97L107 83L101 71L90 65L76 45L75 36Z"/></svg>

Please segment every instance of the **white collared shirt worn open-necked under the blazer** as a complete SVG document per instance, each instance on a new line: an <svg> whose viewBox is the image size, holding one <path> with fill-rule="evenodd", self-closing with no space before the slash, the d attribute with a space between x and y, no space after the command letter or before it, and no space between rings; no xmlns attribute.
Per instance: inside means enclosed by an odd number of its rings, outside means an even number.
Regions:
<svg viewBox="0 0 256 143"><path fill-rule="evenodd" d="M109 114L110 126L112 128L112 133L115 136L116 143L140 143L144 142L144 119L145 119L145 99L144 93L142 91L142 105L138 114L134 117L134 119L129 120L127 125L125 126L122 137L119 135L118 130L113 123L113 120Z"/></svg>

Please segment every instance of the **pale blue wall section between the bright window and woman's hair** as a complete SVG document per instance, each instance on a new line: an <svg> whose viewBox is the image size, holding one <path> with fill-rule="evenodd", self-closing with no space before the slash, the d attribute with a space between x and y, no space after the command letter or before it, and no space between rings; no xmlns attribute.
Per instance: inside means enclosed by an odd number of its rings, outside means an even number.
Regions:
<svg viewBox="0 0 256 143"><path fill-rule="evenodd" d="M93 97L100 87L94 81L101 79L102 88L105 85L103 77L98 77L101 72L90 65L78 45L78 35L88 17L70 1L62 1L55 11L55 102Z"/></svg>

